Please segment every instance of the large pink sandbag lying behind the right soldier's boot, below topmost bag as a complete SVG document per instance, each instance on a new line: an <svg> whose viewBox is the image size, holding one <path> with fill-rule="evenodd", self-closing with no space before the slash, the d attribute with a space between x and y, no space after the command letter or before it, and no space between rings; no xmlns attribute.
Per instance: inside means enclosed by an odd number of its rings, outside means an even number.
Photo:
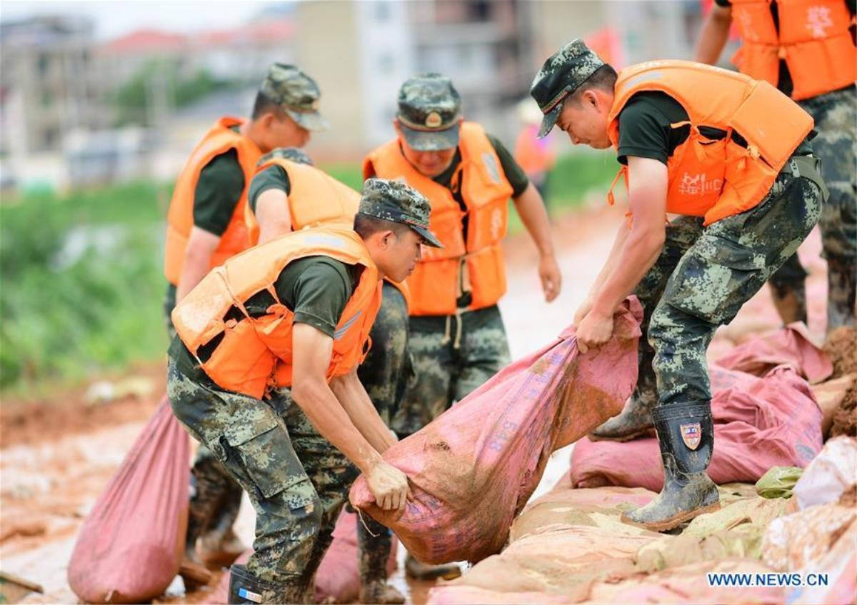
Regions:
<svg viewBox="0 0 857 605"><path fill-rule="evenodd" d="M756 482L772 466L804 467L821 451L821 410L794 369L782 366L756 378L714 368L711 378L715 437L708 473L714 482ZM572 451L571 485L660 491L659 452L653 437L580 440Z"/></svg>

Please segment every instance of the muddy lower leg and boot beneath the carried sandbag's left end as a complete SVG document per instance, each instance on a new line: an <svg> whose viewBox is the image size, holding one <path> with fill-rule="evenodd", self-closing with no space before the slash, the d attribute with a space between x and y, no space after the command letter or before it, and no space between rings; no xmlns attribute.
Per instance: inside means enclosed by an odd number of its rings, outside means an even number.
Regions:
<svg viewBox="0 0 857 605"><path fill-rule="evenodd" d="M378 523L369 515L357 521L359 602L381 605L399 605L405 602L405 595L393 585L387 584L387 560L392 550L393 534L387 526Z"/></svg>

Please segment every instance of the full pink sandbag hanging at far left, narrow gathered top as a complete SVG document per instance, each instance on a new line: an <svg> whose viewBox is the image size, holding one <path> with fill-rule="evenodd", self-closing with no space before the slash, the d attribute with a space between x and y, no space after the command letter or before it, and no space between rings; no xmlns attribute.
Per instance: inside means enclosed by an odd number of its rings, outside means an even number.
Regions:
<svg viewBox="0 0 857 605"><path fill-rule="evenodd" d="M68 577L81 601L146 602L170 585L187 530L189 457L165 397L77 536Z"/></svg>

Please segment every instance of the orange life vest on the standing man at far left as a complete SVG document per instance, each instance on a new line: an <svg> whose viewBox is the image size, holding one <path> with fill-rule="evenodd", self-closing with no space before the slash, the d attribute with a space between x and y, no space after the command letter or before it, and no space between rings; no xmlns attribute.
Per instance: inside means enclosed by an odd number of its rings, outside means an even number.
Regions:
<svg viewBox="0 0 857 605"><path fill-rule="evenodd" d="M241 124L243 120L235 117L220 118L190 154L188 163L184 165L178 177L176 189L172 192L166 226L164 275L172 285L178 285L178 279L182 275L188 237L194 226L194 197L200 172L213 158L230 149L237 150L238 163L244 172L244 190L235 205L235 212L232 213L226 231L220 237L218 247L214 249L211 267L217 267L230 256L248 248L244 206L247 203L250 178L253 177L256 162L262 153L253 141L231 129L232 126Z"/></svg>

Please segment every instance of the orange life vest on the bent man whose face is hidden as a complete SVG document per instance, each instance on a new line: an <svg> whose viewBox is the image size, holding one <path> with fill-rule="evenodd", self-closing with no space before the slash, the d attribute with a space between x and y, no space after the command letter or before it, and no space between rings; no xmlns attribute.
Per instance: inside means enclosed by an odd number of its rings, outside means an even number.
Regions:
<svg viewBox="0 0 857 605"><path fill-rule="evenodd" d="M340 183L325 171L314 166L292 162L285 158L272 158L256 169L256 174L268 166L279 165L289 175L289 214L292 231L323 225L354 225L354 215L360 207L360 194L345 183ZM259 243L259 221L253 208L245 205L244 220L251 246ZM387 279L411 303L411 293L405 282Z"/></svg>

